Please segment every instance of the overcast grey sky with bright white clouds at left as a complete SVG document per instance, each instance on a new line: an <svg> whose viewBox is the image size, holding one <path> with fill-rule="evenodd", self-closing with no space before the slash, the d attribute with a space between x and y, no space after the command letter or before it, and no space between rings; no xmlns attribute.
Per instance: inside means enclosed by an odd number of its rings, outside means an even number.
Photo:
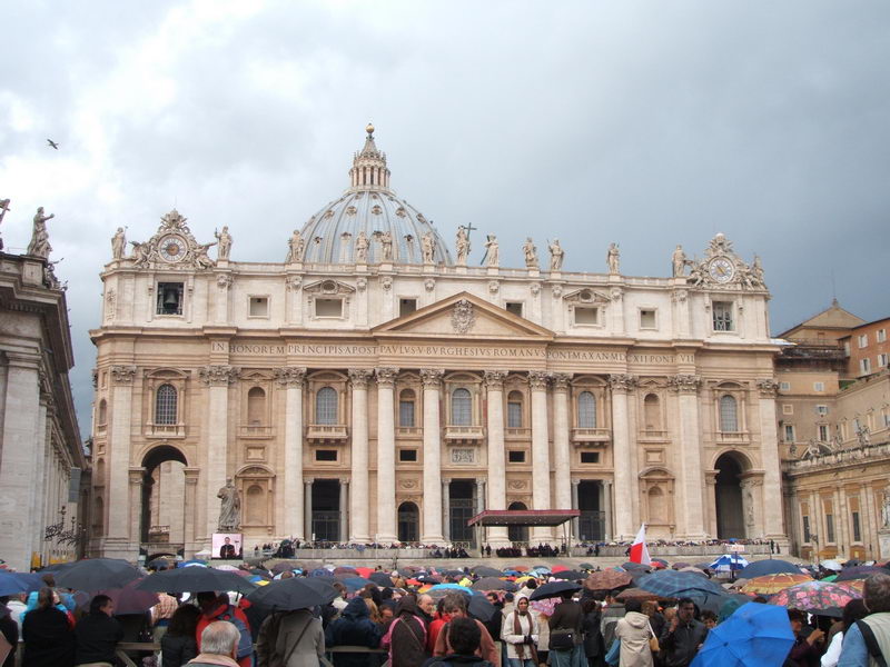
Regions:
<svg viewBox="0 0 890 667"><path fill-rule="evenodd" d="M521 266L666 276L723 231L761 255L773 331L890 315L890 3L0 2L0 227L38 206L69 281L88 431L99 271L171 208L234 260L281 261L348 185L364 127L448 243ZM59 142L56 151L47 138ZM476 243L471 261L479 259ZM474 259L475 257L475 259Z"/></svg>

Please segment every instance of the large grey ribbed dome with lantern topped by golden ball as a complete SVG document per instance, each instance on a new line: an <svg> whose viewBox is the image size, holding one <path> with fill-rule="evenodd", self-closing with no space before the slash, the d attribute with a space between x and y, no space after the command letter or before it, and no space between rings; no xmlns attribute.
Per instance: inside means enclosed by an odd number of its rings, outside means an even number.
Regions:
<svg viewBox="0 0 890 667"><path fill-rule="evenodd" d="M383 260L380 238L393 239L394 263L423 263L422 239L432 233L434 263L452 265L445 242L424 215L389 189L386 155L374 143L374 127L367 127L365 147L353 158L350 186L309 218L301 233L306 243L304 261L355 263L355 241L362 231L370 241L368 263Z"/></svg>

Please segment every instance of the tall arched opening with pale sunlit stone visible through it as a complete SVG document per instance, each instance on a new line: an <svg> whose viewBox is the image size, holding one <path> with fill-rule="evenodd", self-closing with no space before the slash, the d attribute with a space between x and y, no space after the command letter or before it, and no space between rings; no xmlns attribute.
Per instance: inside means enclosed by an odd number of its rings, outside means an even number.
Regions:
<svg viewBox="0 0 890 667"><path fill-rule="evenodd" d="M161 445L142 459L139 538L149 545L185 545L186 457Z"/></svg>

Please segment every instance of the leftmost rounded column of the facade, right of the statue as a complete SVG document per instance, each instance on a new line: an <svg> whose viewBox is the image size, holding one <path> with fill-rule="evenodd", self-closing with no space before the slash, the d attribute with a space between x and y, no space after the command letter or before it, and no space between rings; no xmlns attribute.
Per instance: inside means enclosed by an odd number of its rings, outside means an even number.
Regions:
<svg viewBox="0 0 890 667"><path fill-rule="evenodd" d="M303 381L305 368L276 368L275 379L285 388L285 469L281 502L284 534L300 541L307 528L303 517Z"/></svg>

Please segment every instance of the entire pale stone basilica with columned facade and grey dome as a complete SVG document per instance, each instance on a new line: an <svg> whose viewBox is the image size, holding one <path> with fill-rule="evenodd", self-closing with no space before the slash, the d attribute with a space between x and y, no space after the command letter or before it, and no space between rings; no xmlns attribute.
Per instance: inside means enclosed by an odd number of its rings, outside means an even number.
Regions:
<svg viewBox="0 0 890 667"><path fill-rule="evenodd" d="M459 228L452 251L372 132L284 262L230 260L249 230L228 228L211 259L177 211L132 255L116 235L91 331L95 555L209 547L228 480L249 547L472 541L483 509L570 508L582 540L645 522L785 541L756 258L718 235L701 261L665 249L672 277L622 275L615 246L575 273L530 240L502 268L488 236L471 267L482 239Z"/></svg>

